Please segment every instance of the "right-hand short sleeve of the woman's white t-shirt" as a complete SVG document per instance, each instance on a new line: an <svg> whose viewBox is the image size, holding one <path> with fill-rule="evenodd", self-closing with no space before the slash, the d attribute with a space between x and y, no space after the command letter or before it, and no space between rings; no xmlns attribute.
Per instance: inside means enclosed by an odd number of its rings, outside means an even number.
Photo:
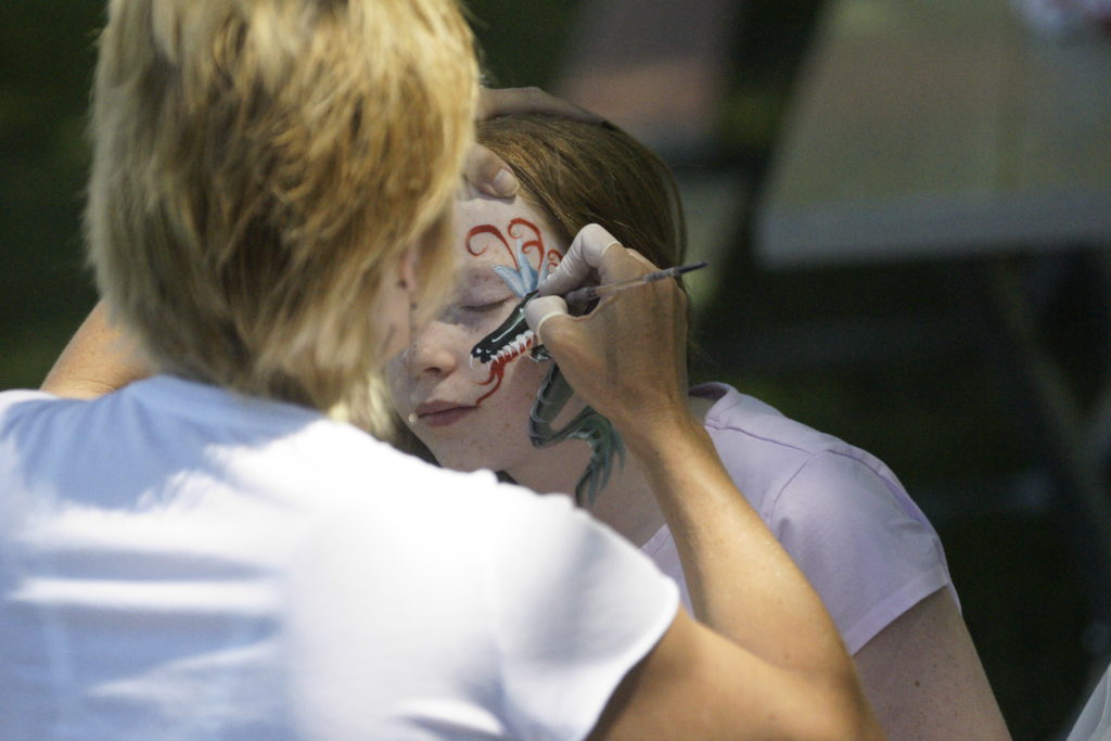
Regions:
<svg viewBox="0 0 1111 741"><path fill-rule="evenodd" d="M581 739L671 625L678 589L568 498L530 499L492 551L506 720L514 737Z"/></svg>

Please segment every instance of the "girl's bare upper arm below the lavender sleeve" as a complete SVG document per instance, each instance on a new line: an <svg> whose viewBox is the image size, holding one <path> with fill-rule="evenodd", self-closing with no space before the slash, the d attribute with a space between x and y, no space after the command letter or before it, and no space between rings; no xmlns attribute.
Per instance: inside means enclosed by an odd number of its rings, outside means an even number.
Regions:
<svg viewBox="0 0 1111 741"><path fill-rule="evenodd" d="M948 589L904 612L853 659L892 739L1010 738Z"/></svg>

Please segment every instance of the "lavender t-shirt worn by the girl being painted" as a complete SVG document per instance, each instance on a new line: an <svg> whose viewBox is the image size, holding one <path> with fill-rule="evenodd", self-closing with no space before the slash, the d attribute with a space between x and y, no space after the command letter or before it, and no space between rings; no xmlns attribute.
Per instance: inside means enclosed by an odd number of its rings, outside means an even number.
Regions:
<svg viewBox="0 0 1111 741"><path fill-rule="evenodd" d="M821 595L850 653L942 587L957 599L938 533L874 455L783 417L722 383L704 425L752 508ZM642 550L680 587L668 528Z"/></svg>

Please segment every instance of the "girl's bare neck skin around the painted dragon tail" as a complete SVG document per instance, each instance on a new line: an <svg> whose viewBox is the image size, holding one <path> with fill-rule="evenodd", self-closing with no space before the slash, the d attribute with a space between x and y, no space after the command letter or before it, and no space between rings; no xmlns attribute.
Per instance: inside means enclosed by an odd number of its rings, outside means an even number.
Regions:
<svg viewBox="0 0 1111 741"><path fill-rule="evenodd" d="M713 401L691 397L689 408L698 420ZM536 455L520 467L507 471L513 480L541 494L574 491L582 471L590 460L585 442L571 440L536 451ZM590 513L615 530L638 548L663 527L663 512L652 495L640 463L627 455L624 465L614 461L609 483L598 495Z"/></svg>

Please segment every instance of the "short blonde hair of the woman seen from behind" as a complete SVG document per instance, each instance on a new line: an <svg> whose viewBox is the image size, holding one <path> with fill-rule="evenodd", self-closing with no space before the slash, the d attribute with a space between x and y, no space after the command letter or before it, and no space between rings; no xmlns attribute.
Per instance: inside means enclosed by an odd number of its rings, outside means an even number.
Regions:
<svg viewBox="0 0 1111 741"><path fill-rule="evenodd" d="M358 403L407 250L450 280L477 88L454 0L111 0L86 229L113 321L169 372Z"/></svg>

